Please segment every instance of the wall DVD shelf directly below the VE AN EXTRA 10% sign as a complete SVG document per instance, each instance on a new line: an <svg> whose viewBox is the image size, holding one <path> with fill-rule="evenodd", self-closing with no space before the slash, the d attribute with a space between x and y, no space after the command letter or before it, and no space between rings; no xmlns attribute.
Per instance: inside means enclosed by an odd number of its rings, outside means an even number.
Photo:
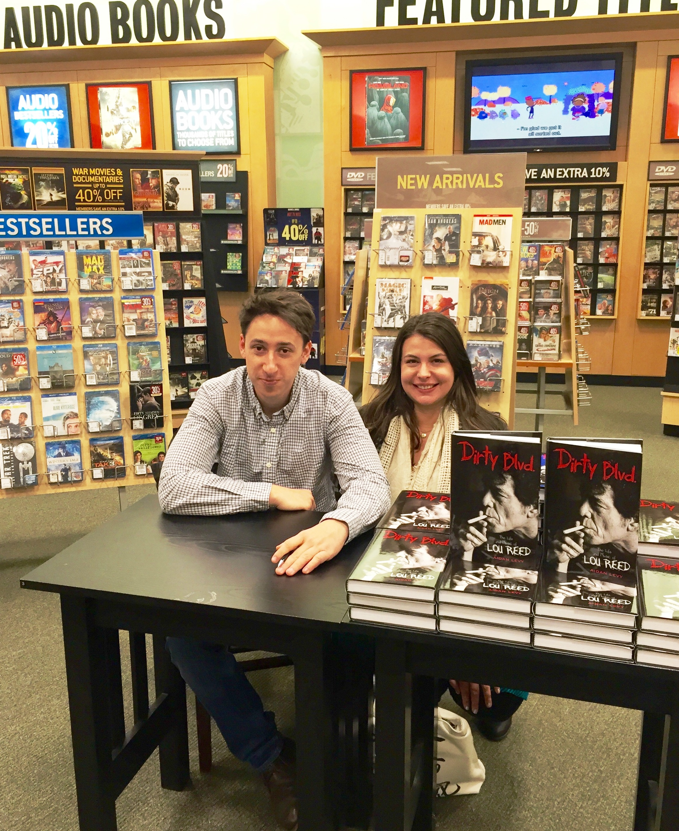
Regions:
<svg viewBox="0 0 679 831"><path fill-rule="evenodd" d="M590 289L583 317L617 317L617 270L620 248L622 184L530 186L524 194L524 217L573 220L568 245Z"/></svg>

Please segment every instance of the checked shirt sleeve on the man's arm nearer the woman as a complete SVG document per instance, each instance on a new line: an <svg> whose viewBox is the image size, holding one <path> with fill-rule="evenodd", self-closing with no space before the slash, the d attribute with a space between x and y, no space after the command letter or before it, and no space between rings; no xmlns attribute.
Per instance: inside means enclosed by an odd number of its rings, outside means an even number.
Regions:
<svg viewBox="0 0 679 831"><path fill-rule="evenodd" d="M391 505L389 483L375 445L363 425L353 401L330 420L328 429L332 467L342 489L337 508L323 519L341 519L349 528L349 539L376 524Z"/></svg>

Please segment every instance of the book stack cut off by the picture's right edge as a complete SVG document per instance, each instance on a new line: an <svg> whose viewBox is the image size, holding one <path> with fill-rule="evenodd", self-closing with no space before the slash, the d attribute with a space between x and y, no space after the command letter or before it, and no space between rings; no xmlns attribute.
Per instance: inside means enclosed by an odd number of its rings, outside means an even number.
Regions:
<svg viewBox="0 0 679 831"><path fill-rule="evenodd" d="M637 557L637 585L636 661L679 669L679 548L658 546L657 555Z"/></svg>

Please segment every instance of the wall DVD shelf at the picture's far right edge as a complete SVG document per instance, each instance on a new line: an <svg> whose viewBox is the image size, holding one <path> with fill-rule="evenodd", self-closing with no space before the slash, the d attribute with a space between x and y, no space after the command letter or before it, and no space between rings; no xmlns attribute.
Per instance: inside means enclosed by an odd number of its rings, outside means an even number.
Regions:
<svg viewBox="0 0 679 831"><path fill-rule="evenodd" d="M646 238L637 317L672 316L674 274L679 258L679 184L648 186Z"/></svg>

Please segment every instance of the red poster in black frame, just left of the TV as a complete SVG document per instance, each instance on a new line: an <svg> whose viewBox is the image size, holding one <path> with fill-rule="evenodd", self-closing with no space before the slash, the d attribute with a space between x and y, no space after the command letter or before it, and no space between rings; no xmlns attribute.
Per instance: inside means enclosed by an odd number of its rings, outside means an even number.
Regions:
<svg viewBox="0 0 679 831"><path fill-rule="evenodd" d="M426 69L349 73L350 150L423 150Z"/></svg>

